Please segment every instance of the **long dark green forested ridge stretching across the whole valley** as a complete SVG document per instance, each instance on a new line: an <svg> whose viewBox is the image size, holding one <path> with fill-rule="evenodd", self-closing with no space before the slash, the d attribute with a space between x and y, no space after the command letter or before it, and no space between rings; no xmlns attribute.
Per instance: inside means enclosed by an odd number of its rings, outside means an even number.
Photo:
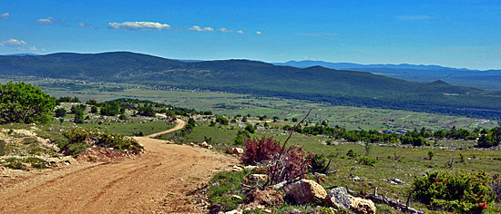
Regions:
<svg viewBox="0 0 501 214"><path fill-rule="evenodd" d="M148 83L501 119L500 93L322 66L297 68L249 60L184 63L128 52L53 53L0 56L0 75Z"/></svg>

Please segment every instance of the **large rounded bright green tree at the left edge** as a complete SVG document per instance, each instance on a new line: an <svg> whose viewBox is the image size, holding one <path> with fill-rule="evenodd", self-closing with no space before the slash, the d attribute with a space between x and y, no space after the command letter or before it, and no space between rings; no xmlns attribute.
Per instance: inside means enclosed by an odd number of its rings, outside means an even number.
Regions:
<svg viewBox="0 0 501 214"><path fill-rule="evenodd" d="M12 81L0 84L0 123L49 122L56 100L39 87Z"/></svg>

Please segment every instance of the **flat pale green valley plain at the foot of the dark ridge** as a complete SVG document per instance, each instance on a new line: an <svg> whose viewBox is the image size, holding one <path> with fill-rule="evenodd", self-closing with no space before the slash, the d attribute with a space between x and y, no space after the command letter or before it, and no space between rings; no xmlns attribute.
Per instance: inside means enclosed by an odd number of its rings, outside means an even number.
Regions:
<svg viewBox="0 0 501 214"><path fill-rule="evenodd" d="M6 80L3 80L4 82ZM146 85L118 83L82 83L56 80L27 80L40 85L53 96L77 96L83 102L94 99L98 102L118 98L138 98L163 102L174 106L211 111L224 115L267 115L281 119L301 117L312 109L308 122L327 121L331 126L339 125L347 130L439 130L456 128L493 128L498 122L465 117L445 116L423 112L394 111L385 109L332 106L325 102L307 102L276 97L255 97L249 94L209 92L197 90L156 89Z"/></svg>

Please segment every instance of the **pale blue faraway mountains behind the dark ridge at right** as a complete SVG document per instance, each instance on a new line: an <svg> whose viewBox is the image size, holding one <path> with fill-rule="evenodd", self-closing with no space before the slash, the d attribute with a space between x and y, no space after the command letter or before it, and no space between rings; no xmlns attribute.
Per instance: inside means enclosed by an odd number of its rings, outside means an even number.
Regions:
<svg viewBox="0 0 501 214"><path fill-rule="evenodd" d="M359 63L329 63L323 61L289 61L273 63L275 65L306 68L315 65L322 67L362 71L389 76L393 78L428 83L443 80L455 85L481 88L487 91L501 91L501 70L469 70L465 68L450 68L438 65L415 64L359 64ZM493 78L491 78L493 77Z"/></svg>

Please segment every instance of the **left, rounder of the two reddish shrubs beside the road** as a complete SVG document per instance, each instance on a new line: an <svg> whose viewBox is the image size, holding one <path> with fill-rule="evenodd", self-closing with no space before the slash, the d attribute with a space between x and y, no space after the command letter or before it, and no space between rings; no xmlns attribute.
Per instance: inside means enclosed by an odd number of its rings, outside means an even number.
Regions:
<svg viewBox="0 0 501 214"><path fill-rule="evenodd" d="M257 164L278 158L281 152L280 141L262 136L261 139L246 139L243 142L245 152L242 161L244 164Z"/></svg>

